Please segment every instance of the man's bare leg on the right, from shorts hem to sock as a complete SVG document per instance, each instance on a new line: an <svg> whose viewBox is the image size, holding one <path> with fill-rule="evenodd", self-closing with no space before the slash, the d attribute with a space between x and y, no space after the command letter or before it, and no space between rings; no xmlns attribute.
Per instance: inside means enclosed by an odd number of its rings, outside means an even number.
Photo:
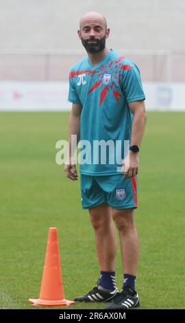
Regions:
<svg viewBox="0 0 185 323"><path fill-rule="evenodd" d="M121 256L126 274L136 276L139 256L139 240L134 223L134 209L112 209L112 218L119 230Z"/></svg>

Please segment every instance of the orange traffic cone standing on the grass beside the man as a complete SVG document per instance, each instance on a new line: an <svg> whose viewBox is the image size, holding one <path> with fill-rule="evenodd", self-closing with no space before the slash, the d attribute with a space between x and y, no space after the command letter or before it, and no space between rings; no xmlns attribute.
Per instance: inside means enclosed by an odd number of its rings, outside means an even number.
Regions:
<svg viewBox="0 0 185 323"><path fill-rule="evenodd" d="M45 266L42 275L42 284L38 300L29 299L34 306L40 307L67 307L75 302L64 299L62 285L62 271L58 248L57 228L49 228Z"/></svg>

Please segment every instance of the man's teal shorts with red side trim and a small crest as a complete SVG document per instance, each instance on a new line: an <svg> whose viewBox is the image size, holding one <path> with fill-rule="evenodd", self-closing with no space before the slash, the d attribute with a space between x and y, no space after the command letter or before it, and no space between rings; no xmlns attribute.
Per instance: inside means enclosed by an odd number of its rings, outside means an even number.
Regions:
<svg viewBox="0 0 185 323"><path fill-rule="evenodd" d="M81 174L82 208L107 203L114 209L137 208L136 177L123 174L89 176Z"/></svg>

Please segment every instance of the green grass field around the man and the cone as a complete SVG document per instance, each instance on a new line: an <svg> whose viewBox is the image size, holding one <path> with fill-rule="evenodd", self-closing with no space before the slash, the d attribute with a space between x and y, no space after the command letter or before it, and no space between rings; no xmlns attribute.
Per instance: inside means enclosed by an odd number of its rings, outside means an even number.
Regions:
<svg viewBox="0 0 185 323"><path fill-rule="evenodd" d="M0 308L35 309L49 227L58 227L65 298L96 285L99 267L79 182L55 161L69 113L0 113ZM185 113L148 113L140 153L138 210L141 309L184 309ZM120 249L116 282L123 272ZM103 309L78 304L69 309ZM66 309L66 308L64 308Z"/></svg>

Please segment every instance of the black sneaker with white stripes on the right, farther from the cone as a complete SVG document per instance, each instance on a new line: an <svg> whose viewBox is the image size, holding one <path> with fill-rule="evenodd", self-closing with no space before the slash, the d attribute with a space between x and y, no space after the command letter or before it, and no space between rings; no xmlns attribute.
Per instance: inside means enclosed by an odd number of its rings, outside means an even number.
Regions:
<svg viewBox="0 0 185 323"><path fill-rule="evenodd" d="M140 302L138 293L130 286L125 287L124 291L117 293L114 300L106 309L131 309L132 307L139 307Z"/></svg>

